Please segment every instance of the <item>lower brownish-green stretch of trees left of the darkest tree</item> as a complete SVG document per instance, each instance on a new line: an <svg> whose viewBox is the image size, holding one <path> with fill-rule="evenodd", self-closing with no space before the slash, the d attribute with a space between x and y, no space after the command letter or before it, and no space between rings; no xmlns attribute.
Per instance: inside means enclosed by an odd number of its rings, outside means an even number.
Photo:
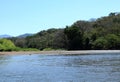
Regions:
<svg viewBox="0 0 120 82"><path fill-rule="evenodd" d="M67 49L67 38L64 29L48 29L26 38L10 38L21 48L36 48L39 50Z"/></svg>

